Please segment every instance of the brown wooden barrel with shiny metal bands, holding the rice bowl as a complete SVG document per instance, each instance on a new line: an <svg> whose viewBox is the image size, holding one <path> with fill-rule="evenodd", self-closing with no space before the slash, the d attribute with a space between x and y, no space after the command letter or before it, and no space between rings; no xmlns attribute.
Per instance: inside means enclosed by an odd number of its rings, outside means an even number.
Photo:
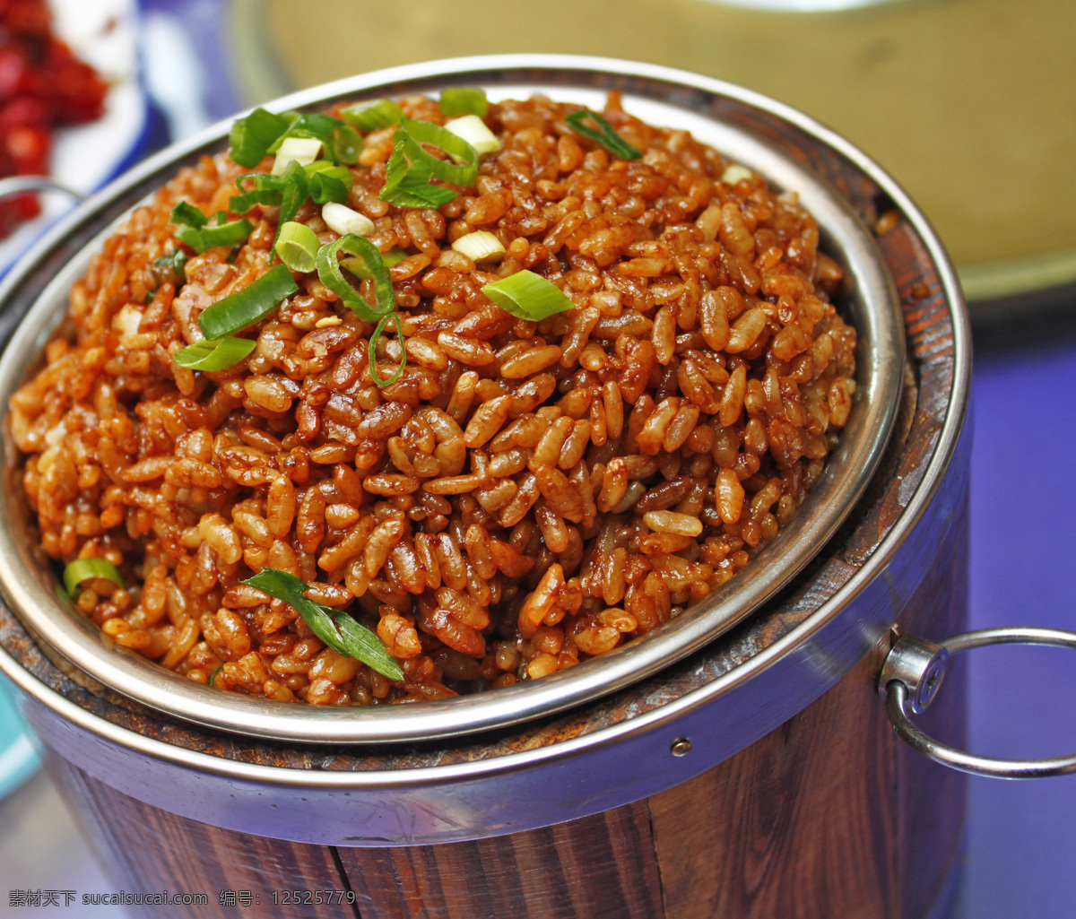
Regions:
<svg viewBox="0 0 1076 919"><path fill-rule="evenodd" d="M479 71L486 84L570 86L600 73L625 94L686 94L883 226L907 362L869 486L794 578L681 660L585 704L424 741L285 743L168 717L89 679L41 640L32 614L2 607L0 668L23 690L52 775L117 887L204 895L136 915L943 915L964 780L897 740L876 682L898 631L938 639L962 630L966 609L969 338L944 252L874 164L752 94L562 58L456 65L452 82ZM385 93L411 88L414 73L390 74ZM129 200L166 165L152 160ZM0 292L5 334L43 283L27 279L113 216L72 218L80 232L69 221L36 250ZM947 723L933 730L959 743L962 706L950 687Z"/></svg>

